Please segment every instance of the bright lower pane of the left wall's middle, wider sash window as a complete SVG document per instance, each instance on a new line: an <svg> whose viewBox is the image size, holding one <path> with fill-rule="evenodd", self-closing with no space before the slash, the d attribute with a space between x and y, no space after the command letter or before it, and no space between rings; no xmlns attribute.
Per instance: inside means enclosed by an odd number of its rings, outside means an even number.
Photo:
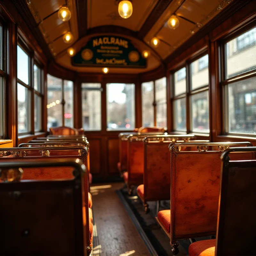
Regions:
<svg viewBox="0 0 256 256"><path fill-rule="evenodd" d="M29 111L29 94L28 88L17 84L18 93L18 133L30 132L30 111Z"/></svg>

